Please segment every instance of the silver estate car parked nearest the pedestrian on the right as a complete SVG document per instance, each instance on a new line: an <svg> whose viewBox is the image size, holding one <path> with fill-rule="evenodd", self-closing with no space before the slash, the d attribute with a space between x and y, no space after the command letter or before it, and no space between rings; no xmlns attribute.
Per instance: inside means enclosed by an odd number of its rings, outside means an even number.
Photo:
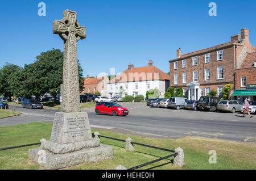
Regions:
<svg viewBox="0 0 256 181"><path fill-rule="evenodd" d="M217 104L218 111L228 111L232 113L240 111L242 107L243 103L237 100L220 100Z"/></svg>

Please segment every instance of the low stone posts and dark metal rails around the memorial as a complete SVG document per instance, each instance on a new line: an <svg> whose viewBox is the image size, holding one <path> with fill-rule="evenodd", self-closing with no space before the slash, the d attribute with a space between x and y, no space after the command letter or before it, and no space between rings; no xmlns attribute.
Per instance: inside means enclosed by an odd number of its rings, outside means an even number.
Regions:
<svg viewBox="0 0 256 181"><path fill-rule="evenodd" d="M159 150L164 150L164 151L170 151L170 152L173 153L173 154L167 155L165 157L161 157L161 158L155 159L153 161L150 161L150 162L147 162L147 163L143 163L141 165L137 165L137 166L131 167L130 169L127 169L127 170L138 169L138 168L141 168L143 166L150 165L151 163L155 163L155 162L159 162L159 161L161 161L163 159L167 159L169 157L174 157L174 165L178 165L180 167L182 167L184 165L184 154L183 154L183 150L181 148L177 148L175 150L170 150L170 149L166 149L166 148L159 148L159 147L156 147L156 146L145 145L145 144L141 144L139 142L134 142L134 141L131 140L131 138L127 138L126 140L121 140L121 139L118 139L118 138L102 136L98 132L92 133L92 136L93 137L98 136L99 138L100 137L104 137L104 138L109 138L109 139L112 139L112 140L126 142L126 150L134 150L133 145L135 144L135 145L146 146L148 148L154 148L154 149L159 149ZM15 148L22 148L22 147L26 147L26 146L40 145L40 144L41 144L40 142L37 142L37 143L34 143L34 144L27 144L27 145L12 146L12 147L7 147L7 148L0 148L0 151L1 150L8 150L8 149L15 149ZM120 169L126 169L122 165L120 165L120 166L118 166ZM117 169L118 169L118 167L117 167Z"/></svg>

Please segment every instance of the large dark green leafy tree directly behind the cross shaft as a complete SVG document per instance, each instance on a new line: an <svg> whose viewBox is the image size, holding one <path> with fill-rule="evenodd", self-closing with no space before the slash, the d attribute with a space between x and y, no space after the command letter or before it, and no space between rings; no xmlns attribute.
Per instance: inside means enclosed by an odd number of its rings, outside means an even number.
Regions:
<svg viewBox="0 0 256 181"><path fill-rule="evenodd" d="M79 87L83 90L84 78L82 77L82 68L77 60L79 69ZM30 97L49 93L55 99L60 94L60 85L63 79L63 52L59 49L48 50L36 56L36 61L24 68L12 77L11 88L16 96Z"/></svg>

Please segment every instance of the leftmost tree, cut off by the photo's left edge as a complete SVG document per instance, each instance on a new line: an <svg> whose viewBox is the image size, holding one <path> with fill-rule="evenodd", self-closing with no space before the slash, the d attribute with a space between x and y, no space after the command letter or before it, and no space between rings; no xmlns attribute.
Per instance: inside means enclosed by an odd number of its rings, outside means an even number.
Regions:
<svg viewBox="0 0 256 181"><path fill-rule="evenodd" d="M13 89L10 89L10 82L13 74L22 68L18 65L9 64L8 62L0 69L0 96L11 97Z"/></svg>

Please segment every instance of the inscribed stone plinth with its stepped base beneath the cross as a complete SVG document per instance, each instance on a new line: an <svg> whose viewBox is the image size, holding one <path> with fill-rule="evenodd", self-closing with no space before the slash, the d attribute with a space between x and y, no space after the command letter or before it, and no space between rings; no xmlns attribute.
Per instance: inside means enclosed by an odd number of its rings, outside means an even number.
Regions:
<svg viewBox="0 0 256 181"><path fill-rule="evenodd" d="M56 112L51 140L40 142L40 148L28 150L28 158L43 169L63 169L114 156L112 146L92 138L87 112Z"/></svg>

